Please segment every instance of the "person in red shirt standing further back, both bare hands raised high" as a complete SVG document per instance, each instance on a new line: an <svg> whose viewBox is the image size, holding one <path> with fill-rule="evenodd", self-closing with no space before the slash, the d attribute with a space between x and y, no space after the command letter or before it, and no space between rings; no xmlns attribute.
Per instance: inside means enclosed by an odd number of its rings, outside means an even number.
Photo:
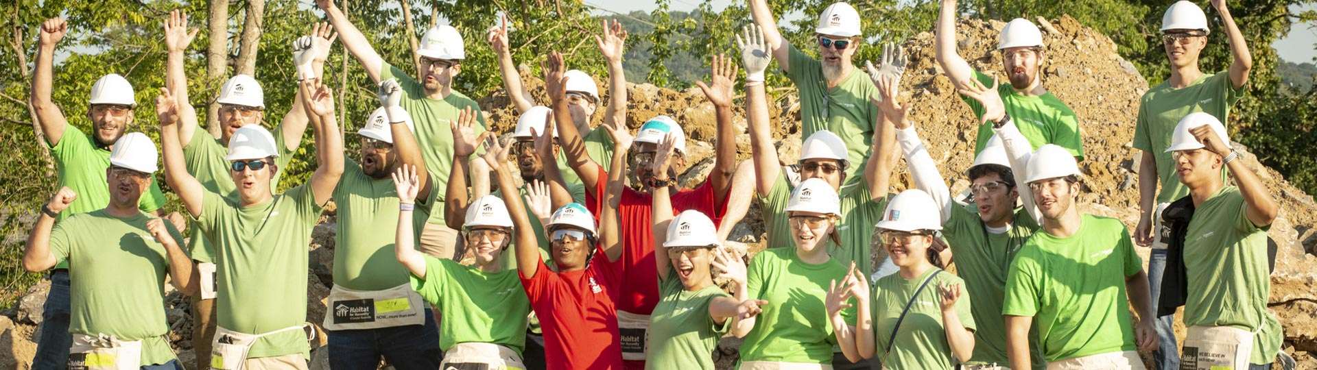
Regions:
<svg viewBox="0 0 1317 370"><path fill-rule="evenodd" d="M544 65L544 80L545 90L553 101L554 117L558 122L569 122L572 119L564 87L565 80L562 79L564 70L562 57L558 53L552 53ZM673 212L699 211L707 215L714 221L714 225L719 225L719 229L730 229L731 225L739 221L739 216L734 216L732 213L744 215L745 209L731 212L727 205L731 195L739 194L745 196L744 200L748 200L748 196L752 194L751 186L753 186L753 171L738 171L735 166L736 133L731 124L732 82L735 79L735 63L730 58L716 55L712 62L712 83L697 83L705 92L705 96L709 97L709 101L714 104L714 112L718 117L718 137L714 169L709 174L709 178L694 188L677 188L677 174L686 167L686 145L681 125L672 117L657 116L649 119L640 126L635 145L616 147L626 157L615 154L614 158L626 161L624 165L631 167L631 172L628 174L631 183L639 187L639 190L622 188L616 209L620 216L622 248L626 250L622 253L622 275L627 284L622 287L616 302L623 358L627 359L626 369L644 369L648 340L645 330L649 325L649 313L653 312L655 305L658 303L658 271L655 267L653 259L653 234L651 233L652 200L649 190L668 187L672 194ZM610 178L611 172L595 163L585 151L585 142L574 125L557 125L557 130L560 144L566 151L568 165L585 184L586 207L590 211L598 211L602 208L599 195L605 192L606 187L603 179ZM624 132L626 128L616 128L616 130ZM656 174L651 170L651 162L655 158L660 138L669 133L677 138L674 142L677 155L673 158L673 166L669 171ZM614 166L614 169L624 171L624 167ZM749 166L745 166L745 169L749 169ZM734 172L738 174L735 183L738 187L743 184L744 188L734 190ZM740 203L748 204L748 201L731 201L731 204ZM724 220L724 216L727 220ZM736 220L732 220L732 217Z"/></svg>

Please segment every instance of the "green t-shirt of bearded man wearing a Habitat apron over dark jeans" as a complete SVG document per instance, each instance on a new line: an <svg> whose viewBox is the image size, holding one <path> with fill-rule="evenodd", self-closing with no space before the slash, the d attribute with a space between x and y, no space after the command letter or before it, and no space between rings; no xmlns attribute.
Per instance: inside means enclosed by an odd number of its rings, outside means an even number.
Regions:
<svg viewBox="0 0 1317 370"><path fill-rule="evenodd" d="M398 190L392 178L375 179L352 158L333 190L338 207L335 225L333 283L349 290L378 291L407 283L407 269L394 255L398 229ZM419 240L429 216L427 204L416 204L412 230Z"/></svg>

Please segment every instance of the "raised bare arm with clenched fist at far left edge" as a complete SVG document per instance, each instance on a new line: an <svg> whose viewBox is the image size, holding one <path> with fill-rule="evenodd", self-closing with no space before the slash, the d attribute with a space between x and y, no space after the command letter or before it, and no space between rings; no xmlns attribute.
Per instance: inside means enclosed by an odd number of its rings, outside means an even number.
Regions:
<svg viewBox="0 0 1317 370"><path fill-rule="evenodd" d="M65 38L66 32L68 32L68 25L62 18L49 18L41 24L37 67L32 74L32 95L28 97L28 101L32 103L32 111L37 115L37 122L41 124L41 133L46 136L46 142L51 146L59 144L59 138L65 136L65 126L68 125L65 113L50 99L55 45Z"/></svg>

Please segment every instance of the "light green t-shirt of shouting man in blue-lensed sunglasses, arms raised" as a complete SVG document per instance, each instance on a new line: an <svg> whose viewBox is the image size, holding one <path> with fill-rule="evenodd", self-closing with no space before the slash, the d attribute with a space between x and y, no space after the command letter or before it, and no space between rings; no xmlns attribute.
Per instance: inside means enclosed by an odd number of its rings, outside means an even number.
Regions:
<svg viewBox="0 0 1317 370"><path fill-rule="evenodd" d="M241 207L205 192L198 230L213 240L216 323L229 330L261 334L307 320L307 246L320 219L311 184ZM288 330L262 337L249 358L302 353L306 334Z"/></svg>

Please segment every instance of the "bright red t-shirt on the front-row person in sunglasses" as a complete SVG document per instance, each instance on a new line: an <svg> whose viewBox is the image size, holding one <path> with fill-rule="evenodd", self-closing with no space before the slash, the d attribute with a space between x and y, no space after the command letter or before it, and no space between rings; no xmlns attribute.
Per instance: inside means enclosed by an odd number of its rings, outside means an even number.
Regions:
<svg viewBox="0 0 1317 370"><path fill-rule="evenodd" d="M612 302L622 280L618 262L603 249L579 271L554 273L544 265L533 277L520 271L522 287L544 332L548 369L622 369L618 313Z"/></svg>

